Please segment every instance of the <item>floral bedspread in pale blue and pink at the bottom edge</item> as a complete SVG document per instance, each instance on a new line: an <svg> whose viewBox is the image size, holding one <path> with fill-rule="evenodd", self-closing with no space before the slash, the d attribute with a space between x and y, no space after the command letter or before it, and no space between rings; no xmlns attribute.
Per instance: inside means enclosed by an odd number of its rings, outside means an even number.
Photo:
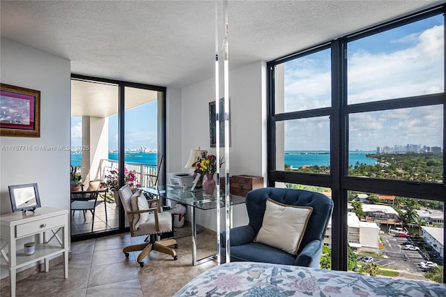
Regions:
<svg viewBox="0 0 446 297"><path fill-rule="evenodd" d="M235 262L202 273L174 296L446 296L446 285L300 266Z"/></svg>

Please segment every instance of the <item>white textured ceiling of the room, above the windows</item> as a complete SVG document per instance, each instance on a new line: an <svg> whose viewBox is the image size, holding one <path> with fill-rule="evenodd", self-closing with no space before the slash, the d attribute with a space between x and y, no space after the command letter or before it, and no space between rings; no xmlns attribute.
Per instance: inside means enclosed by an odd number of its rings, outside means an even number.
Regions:
<svg viewBox="0 0 446 297"><path fill-rule="evenodd" d="M229 66L279 56L444 1L229 1ZM160 86L213 77L215 1L0 1L1 36L72 73ZM217 1L222 24L222 1ZM222 40L219 26L220 39Z"/></svg>

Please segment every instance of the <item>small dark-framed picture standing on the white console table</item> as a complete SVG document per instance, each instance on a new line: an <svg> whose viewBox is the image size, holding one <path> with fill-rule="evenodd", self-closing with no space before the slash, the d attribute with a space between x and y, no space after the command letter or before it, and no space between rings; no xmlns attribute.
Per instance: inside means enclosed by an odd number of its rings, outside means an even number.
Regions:
<svg viewBox="0 0 446 297"><path fill-rule="evenodd" d="M13 212L16 211L35 211L40 207L40 197L37 183L28 183L26 185L10 185L9 197Z"/></svg>

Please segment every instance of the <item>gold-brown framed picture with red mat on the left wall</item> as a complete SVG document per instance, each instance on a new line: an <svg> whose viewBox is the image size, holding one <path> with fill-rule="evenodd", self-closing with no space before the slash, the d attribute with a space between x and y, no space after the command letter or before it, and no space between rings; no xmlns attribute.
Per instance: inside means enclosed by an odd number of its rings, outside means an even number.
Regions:
<svg viewBox="0 0 446 297"><path fill-rule="evenodd" d="M0 136L40 137L40 91L0 84Z"/></svg>

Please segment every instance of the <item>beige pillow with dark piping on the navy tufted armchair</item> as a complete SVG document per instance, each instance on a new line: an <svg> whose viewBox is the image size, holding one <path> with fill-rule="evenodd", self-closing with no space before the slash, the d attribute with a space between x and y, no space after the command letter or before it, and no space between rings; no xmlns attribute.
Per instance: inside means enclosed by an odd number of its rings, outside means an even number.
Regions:
<svg viewBox="0 0 446 297"><path fill-rule="evenodd" d="M297 254L313 208L266 201L262 227L254 241Z"/></svg>

